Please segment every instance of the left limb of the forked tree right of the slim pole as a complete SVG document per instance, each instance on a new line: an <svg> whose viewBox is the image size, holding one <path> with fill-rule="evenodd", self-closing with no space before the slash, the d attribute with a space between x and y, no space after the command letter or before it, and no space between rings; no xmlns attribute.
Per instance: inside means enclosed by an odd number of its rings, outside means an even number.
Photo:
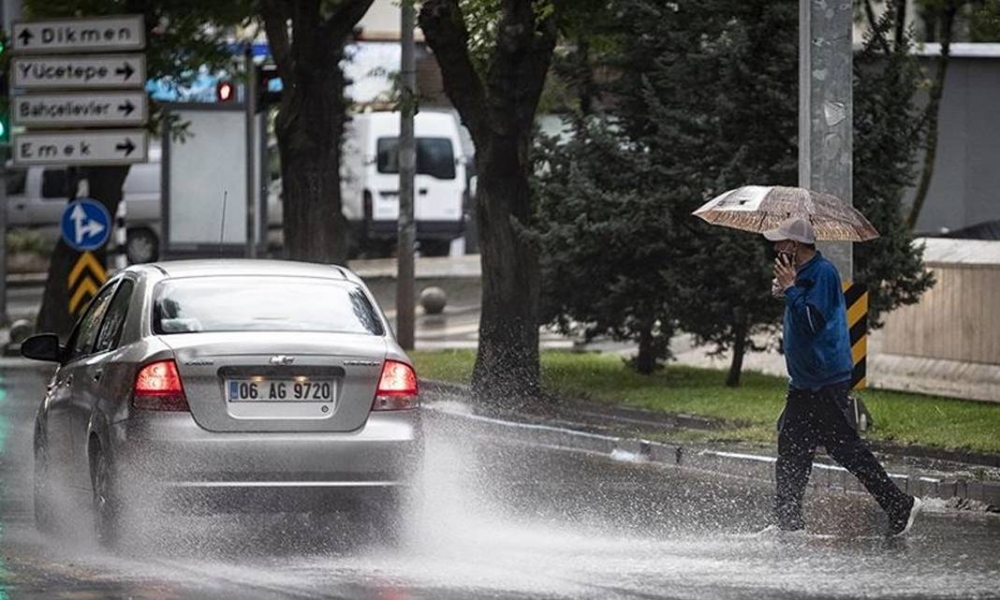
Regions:
<svg viewBox="0 0 1000 600"><path fill-rule="evenodd" d="M418 23L441 67L448 98L480 142L485 133L486 90L469 56L469 30L458 1L427 0Z"/></svg>

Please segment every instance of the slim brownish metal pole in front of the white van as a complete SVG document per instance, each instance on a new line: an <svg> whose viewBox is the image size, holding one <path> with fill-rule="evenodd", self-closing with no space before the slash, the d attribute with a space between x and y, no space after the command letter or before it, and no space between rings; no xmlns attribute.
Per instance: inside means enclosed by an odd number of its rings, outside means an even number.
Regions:
<svg viewBox="0 0 1000 600"><path fill-rule="evenodd" d="M413 134L413 114L416 111L416 61L413 29L413 0L402 0L400 70L403 82L399 120L399 244L396 251L396 338L404 349L414 342L414 265L413 246L416 237L413 223L413 178L416 176L416 145Z"/></svg>

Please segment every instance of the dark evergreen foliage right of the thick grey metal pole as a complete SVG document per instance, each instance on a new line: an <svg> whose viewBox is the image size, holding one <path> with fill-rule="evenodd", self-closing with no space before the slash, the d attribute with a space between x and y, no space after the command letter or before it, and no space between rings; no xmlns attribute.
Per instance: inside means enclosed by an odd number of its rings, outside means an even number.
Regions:
<svg viewBox="0 0 1000 600"><path fill-rule="evenodd" d="M854 61L854 205L882 234L854 246L855 281L868 288L872 328L884 324L886 312L917 302L934 284L902 210L926 132L915 101L922 74L910 35L898 45L885 41L895 16L895 11L882 16Z"/></svg>

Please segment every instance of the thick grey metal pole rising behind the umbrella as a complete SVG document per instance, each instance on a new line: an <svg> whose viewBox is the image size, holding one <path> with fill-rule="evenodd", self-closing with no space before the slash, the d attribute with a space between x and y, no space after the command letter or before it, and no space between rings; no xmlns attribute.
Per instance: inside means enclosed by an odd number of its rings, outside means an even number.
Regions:
<svg viewBox="0 0 1000 600"><path fill-rule="evenodd" d="M799 0L799 185L852 198L853 4ZM821 242L844 281L853 244Z"/></svg>

